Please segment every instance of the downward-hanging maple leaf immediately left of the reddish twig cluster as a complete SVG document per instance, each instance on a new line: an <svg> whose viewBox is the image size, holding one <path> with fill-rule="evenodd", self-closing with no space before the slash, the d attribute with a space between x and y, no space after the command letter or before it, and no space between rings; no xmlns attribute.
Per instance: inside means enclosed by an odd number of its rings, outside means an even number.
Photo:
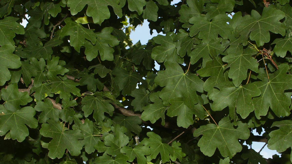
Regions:
<svg viewBox="0 0 292 164"><path fill-rule="evenodd" d="M242 54L228 54L222 58L223 62L227 62L228 77L232 78L234 86L238 87L241 82L246 79L248 69L258 72L258 62L252 57L256 55L256 50L245 48Z"/></svg>

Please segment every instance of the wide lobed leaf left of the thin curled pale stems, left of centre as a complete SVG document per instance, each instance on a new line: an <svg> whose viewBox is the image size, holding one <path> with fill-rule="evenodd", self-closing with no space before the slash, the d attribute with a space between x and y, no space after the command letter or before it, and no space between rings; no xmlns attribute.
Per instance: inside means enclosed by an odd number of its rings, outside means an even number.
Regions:
<svg viewBox="0 0 292 164"><path fill-rule="evenodd" d="M51 93L56 93L60 91L60 98L64 99L65 101L69 101L71 94L80 97L80 89L76 88L79 86L79 83L74 82L72 80L64 80L64 81L53 81L51 82Z"/></svg>

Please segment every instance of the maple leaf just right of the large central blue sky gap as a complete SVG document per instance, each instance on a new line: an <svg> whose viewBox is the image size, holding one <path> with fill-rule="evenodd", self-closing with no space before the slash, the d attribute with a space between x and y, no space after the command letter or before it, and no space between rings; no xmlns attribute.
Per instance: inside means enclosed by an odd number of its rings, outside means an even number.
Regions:
<svg viewBox="0 0 292 164"><path fill-rule="evenodd" d="M153 37L155 43L161 44L161 46L156 46L152 49L152 59L157 60L157 62L183 63L183 58L177 54L176 43L173 42L174 38L175 34L173 32L168 32L166 36L157 35Z"/></svg>

